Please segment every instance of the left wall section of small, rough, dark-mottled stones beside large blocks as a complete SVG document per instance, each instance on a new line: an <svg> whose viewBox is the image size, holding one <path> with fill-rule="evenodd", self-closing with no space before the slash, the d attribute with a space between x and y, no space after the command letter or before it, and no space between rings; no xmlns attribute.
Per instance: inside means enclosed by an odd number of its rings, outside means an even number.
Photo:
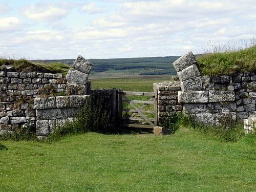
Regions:
<svg viewBox="0 0 256 192"><path fill-rule="evenodd" d="M61 73L25 73L15 71L13 66L1 66L0 70L0 134L28 122L35 126L35 97L66 92L66 79Z"/></svg>

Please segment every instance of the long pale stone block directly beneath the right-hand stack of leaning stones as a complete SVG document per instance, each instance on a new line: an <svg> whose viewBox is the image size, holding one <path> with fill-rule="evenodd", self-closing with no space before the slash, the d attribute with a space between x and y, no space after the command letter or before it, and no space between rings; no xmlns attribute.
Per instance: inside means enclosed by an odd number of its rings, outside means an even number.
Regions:
<svg viewBox="0 0 256 192"><path fill-rule="evenodd" d="M179 103L207 103L209 102L208 91L178 92Z"/></svg>

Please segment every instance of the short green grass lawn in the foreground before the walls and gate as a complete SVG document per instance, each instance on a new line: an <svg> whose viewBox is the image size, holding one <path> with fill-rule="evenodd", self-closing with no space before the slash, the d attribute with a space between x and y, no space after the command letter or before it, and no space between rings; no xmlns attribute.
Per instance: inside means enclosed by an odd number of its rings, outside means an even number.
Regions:
<svg viewBox="0 0 256 192"><path fill-rule="evenodd" d="M0 191L256 191L256 146L194 131L1 141Z"/></svg>

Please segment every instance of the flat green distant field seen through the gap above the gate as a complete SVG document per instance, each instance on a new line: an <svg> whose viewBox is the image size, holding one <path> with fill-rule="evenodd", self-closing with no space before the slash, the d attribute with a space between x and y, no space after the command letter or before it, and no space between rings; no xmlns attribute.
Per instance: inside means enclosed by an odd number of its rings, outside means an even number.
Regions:
<svg viewBox="0 0 256 192"><path fill-rule="evenodd" d="M92 89L122 88L124 91L153 91L154 82L172 81L170 75L91 79Z"/></svg>

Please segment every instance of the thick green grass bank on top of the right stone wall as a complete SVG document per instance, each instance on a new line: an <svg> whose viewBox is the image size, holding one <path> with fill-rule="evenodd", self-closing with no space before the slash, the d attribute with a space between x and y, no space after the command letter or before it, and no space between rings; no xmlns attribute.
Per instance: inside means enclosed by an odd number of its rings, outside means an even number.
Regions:
<svg viewBox="0 0 256 192"><path fill-rule="evenodd" d="M256 70L256 46L239 51L225 50L197 58L202 75L232 75Z"/></svg>

